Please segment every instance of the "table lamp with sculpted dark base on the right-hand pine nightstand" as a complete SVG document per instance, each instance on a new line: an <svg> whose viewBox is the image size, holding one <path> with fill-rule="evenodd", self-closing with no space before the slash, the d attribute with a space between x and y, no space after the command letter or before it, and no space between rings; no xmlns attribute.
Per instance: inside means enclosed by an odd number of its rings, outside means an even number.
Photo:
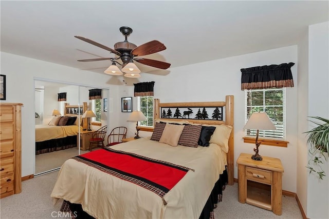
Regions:
<svg viewBox="0 0 329 219"><path fill-rule="evenodd" d="M257 129L256 141L255 141L256 148L253 149L255 154L251 156L251 159L255 161L262 161L263 157L258 154L259 152L258 147L261 145L261 143L258 142L259 130L277 130L277 128L270 121L266 112L254 112L250 116L248 122L243 127L243 129Z"/></svg>

